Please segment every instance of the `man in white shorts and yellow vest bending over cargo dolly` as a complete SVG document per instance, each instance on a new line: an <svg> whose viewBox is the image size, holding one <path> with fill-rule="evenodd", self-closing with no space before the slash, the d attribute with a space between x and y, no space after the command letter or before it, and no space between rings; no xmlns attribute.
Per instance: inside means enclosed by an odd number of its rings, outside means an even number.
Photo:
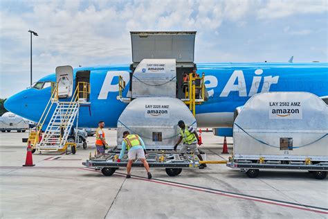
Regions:
<svg viewBox="0 0 328 219"><path fill-rule="evenodd" d="M130 171L134 159L138 158L145 166L147 170L148 179L152 179L152 173L149 171L149 165L146 160L146 147L138 134L130 134L130 132L123 132L122 150L120 151L120 156L118 157L118 162L124 156L125 149L127 149L127 157L129 161L127 162L127 178L131 178Z"/></svg>

